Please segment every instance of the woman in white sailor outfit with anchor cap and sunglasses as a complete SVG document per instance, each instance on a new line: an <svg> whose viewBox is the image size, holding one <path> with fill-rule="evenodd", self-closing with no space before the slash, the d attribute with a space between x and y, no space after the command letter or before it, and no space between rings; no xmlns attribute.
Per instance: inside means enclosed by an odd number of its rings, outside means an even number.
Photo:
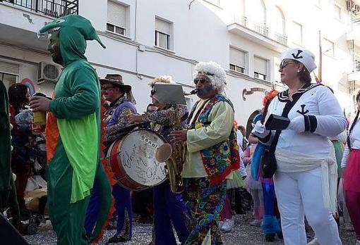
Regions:
<svg viewBox="0 0 360 245"><path fill-rule="evenodd" d="M270 114L290 120L285 130L266 130L260 121L253 134L270 145L266 160L277 166L274 175L284 243L306 244L304 215L321 245L341 244L336 210L337 164L328 137L342 132L347 121L328 87L311 84L314 56L305 49L282 54L281 81L289 87L272 99ZM266 122L265 120L265 122ZM270 168L271 170L271 168Z"/></svg>

